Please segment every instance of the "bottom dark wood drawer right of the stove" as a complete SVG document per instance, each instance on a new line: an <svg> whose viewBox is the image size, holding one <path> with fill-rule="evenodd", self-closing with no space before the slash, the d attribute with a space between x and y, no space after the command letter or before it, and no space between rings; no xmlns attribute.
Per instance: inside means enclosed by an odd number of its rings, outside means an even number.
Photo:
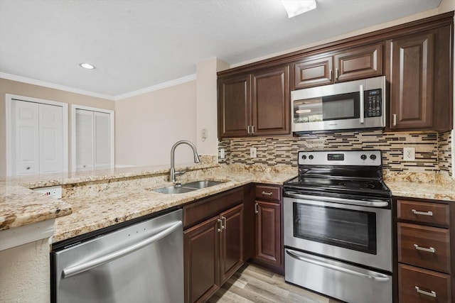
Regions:
<svg viewBox="0 0 455 303"><path fill-rule="evenodd" d="M398 265L400 302L451 302L450 276Z"/></svg>

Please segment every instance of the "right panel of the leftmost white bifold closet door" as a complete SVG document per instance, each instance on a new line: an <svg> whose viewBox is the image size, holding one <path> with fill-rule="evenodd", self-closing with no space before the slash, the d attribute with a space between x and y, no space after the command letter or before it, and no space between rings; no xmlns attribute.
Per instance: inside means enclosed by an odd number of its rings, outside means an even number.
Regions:
<svg viewBox="0 0 455 303"><path fill-rule="evenodd" d="M40 172L63 172L63 108L38 104Z"/></svg>

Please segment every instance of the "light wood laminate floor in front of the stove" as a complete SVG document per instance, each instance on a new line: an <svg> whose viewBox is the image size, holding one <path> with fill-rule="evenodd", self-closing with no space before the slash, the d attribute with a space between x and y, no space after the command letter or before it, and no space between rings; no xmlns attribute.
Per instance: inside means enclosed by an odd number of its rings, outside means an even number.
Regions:
<svg viewBox="0 0 455 303"><path fill-rule="evenodd" d="M210 303L339 303L335 299L323 297L309 290L284 282L284 277L276 275L257 265L247 263L240 268L209 299Z"/></svg>

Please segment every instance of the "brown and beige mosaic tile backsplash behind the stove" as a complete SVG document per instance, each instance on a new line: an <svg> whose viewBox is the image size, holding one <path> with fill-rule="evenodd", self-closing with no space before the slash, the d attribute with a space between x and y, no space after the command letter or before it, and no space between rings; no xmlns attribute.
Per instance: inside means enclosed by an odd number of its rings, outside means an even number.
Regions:
<svg viewBox="0 0 455 303"><path fill-rule="evenodd" d="M225 148L225 158L218 162L245 165L264 164L296 166L299 150L382 150L383 166L395 172L441 172L451 175L451 132L383 133L353 131L306 134L300 137L223 138L218 150ZM415 160L403 160L403 148L415 148ZM257 158L250 158L250 148Z"/></svg>

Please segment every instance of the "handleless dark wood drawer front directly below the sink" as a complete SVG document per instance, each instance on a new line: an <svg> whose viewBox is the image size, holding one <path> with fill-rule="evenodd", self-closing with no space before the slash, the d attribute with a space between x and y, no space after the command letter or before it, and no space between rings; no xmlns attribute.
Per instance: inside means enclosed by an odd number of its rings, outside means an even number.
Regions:
<svg viewBox="0 0 455 303"><path fill-rule="evenodd" d="M202 222L211 216L243 202L243 187L215 194L207 199L183 206L183 228Z"/></svg>

